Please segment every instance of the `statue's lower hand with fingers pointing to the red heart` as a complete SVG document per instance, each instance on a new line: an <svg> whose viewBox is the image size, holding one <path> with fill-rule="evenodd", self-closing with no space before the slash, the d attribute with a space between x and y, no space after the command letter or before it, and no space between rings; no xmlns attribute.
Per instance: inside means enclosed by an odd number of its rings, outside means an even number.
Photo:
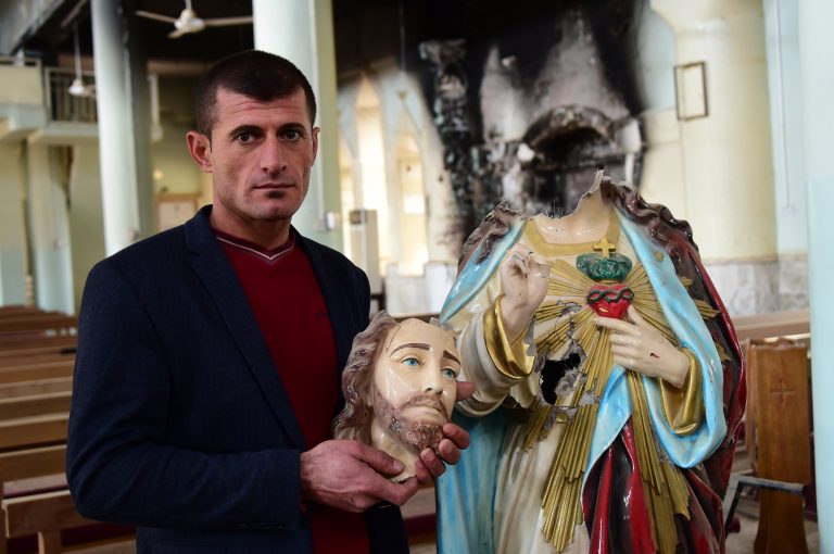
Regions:
<svg viewBox="0 0 834 554"><path fill-rule="evenodd" d="M594 318L596 325L612 331L614 361L627 369L659 377L674 387L681 387L690 368L686 354L646 323L634 306L629 306L628 316L632 323L610 317Z"/></svg>

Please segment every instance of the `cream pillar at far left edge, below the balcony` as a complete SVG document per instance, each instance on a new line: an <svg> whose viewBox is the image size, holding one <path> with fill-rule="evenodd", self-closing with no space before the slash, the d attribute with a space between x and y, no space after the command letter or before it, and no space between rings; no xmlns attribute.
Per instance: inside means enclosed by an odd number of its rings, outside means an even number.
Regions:
<svg viewBox="0 0 834 554"><path fill-rule="evenodd" d="M0 305L26 303L21 146L0 143Z"/></svg>

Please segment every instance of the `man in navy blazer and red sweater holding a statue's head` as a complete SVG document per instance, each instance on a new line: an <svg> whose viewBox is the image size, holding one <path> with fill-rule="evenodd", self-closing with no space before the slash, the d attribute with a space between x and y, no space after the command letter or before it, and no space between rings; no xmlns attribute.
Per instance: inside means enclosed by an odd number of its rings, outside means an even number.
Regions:
<svg viewBox="0 0 834 554"><path fill-rule="evenodd" d="M88 277L67 477L83 515L138 526L140 553L405 552L392 504L443 473L427 449L417 478L393 483L402 463L327 440L369 288L290 225L316 158L315 115L287 60L219 61L187 137L214 205ZM444 432L439 452L455 463L468 435Z"/></svg>

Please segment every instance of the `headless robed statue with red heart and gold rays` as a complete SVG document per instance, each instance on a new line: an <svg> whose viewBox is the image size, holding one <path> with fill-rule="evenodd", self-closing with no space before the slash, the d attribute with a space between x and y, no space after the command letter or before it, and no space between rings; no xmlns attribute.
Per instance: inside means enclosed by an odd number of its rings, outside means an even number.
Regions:
<svg viewBox="0 0 834 554"><path fill-rule="evenodd" d="M475 394L439 552L719 552L737 340L685 222L597 174L576 212L498 205L441 313Z"/></svg>

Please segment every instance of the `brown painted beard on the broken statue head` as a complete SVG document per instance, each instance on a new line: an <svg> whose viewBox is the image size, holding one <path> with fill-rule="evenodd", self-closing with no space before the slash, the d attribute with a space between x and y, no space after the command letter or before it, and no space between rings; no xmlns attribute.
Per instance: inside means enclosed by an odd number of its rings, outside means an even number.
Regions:
<svg viewBox="0 0 834 554"><path fill-rule="evenodd" d="M408 399L408 402L403 407L427 405L435 407L444 415L445 421L448 421L445 407L437 394L415 394ZM374 387L374 411L376 412L376 417L384 424L386 428L400 442L417 452L422 452L427 448L431 449L440 456L438 445L443 439L442 424L413 420L404 417L396 407L386 400L376 387Z"/></svg>

